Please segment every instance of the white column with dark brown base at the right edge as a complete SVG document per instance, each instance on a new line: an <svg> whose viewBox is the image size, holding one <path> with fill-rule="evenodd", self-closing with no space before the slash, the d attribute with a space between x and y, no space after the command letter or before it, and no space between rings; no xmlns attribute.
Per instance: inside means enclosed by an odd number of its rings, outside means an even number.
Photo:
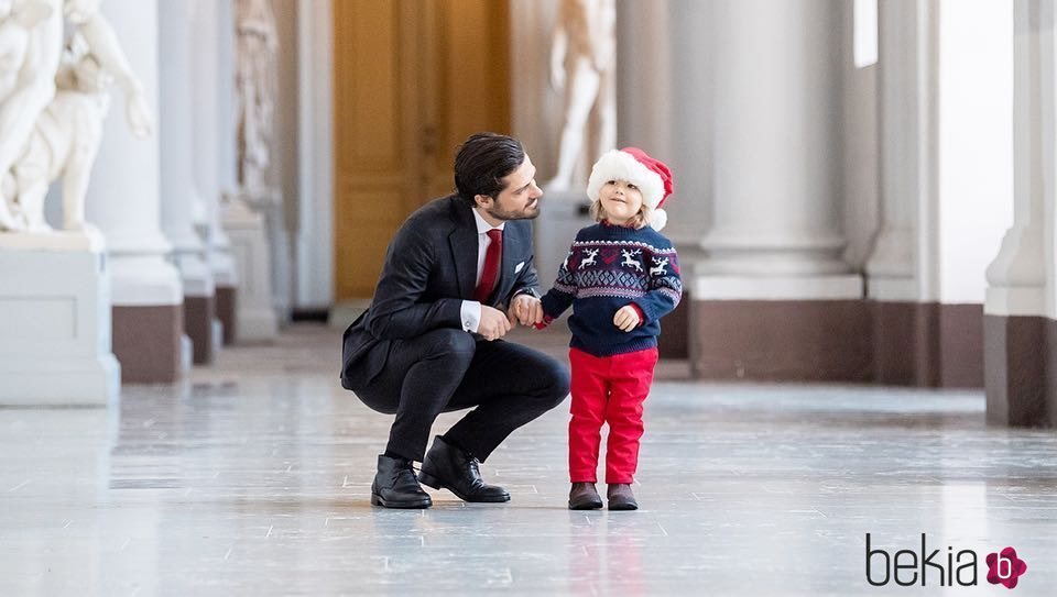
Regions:
<svg viewBox="0 0 1057 597"><path fill-rule="evenodd" d="M1054 0L1016 0L1013 10L1013 225L987 274L987 418L996 425L1053 427L1057 9Z"/></svg>

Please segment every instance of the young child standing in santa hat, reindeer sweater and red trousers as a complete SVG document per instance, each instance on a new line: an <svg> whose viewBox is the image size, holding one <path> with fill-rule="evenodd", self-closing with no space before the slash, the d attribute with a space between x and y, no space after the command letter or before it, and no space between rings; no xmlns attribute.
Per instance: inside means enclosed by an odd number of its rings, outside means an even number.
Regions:
<svg viewBox="0 0 1057 597"><path fill-rule="evenodd" d="M551 323L573 306L569 362L569 509L602 507L595 487L602 423L609 423L606 483L610 510L639 508L631 483L639 466L642 407L657 363L658 320L683 296L678 257L661 235L672 195L667 166L638 147L599 158L587 184L597 224L580 230L543 297Z"/></svg>

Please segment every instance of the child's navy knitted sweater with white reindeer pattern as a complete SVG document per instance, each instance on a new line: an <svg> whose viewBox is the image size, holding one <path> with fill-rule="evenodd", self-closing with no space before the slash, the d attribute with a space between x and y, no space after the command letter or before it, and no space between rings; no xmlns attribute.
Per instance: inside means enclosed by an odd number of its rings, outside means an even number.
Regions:
<svg viewBox="0 0 1057 597"><path fill-rule="evenodd" d="M580 230L558 277L543 297L544 323L569 306L569 345L611 356L657 345L660 319L683 296L679 259L672 242L650 226L639 230L607 222ZM635 305L642 323L630 332L613 324L617 310Z"/></svg>

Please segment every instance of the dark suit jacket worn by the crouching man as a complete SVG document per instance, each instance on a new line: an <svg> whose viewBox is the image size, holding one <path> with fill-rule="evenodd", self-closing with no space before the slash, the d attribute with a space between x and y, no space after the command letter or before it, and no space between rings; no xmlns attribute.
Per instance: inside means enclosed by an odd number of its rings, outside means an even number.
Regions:
<svg viewBox="0 0 1057 597"><path fill-rule="evenodd" d="M370 308L345 331L341 385L370 383L384 367L394 340L438 328L462 329L464 300L473 300L478 232L471 207L456 195L435 199L407 218L389 244ZM538 296L532 224L503 228L502 272L486 301L505 309L511 299Z"/></svg>

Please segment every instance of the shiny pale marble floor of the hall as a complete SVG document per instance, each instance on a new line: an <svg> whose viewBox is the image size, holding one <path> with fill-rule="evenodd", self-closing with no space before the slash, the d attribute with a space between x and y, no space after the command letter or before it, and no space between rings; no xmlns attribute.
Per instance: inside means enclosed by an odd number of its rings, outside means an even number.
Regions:
<svg viewBox="0 0 1057 597"><path fill-rule="evenodd" d="M548 333L519 338L562 354ZM567 406L482 466L509 504L385 510L388 419L338 385L339 336L294 325L119 410L0 409L0 595L1005 595L985 559L1006 546L1009 594L1057 594L1057 432L985 427L981 391L666 362L641 510L566 509Z"/></svg>

